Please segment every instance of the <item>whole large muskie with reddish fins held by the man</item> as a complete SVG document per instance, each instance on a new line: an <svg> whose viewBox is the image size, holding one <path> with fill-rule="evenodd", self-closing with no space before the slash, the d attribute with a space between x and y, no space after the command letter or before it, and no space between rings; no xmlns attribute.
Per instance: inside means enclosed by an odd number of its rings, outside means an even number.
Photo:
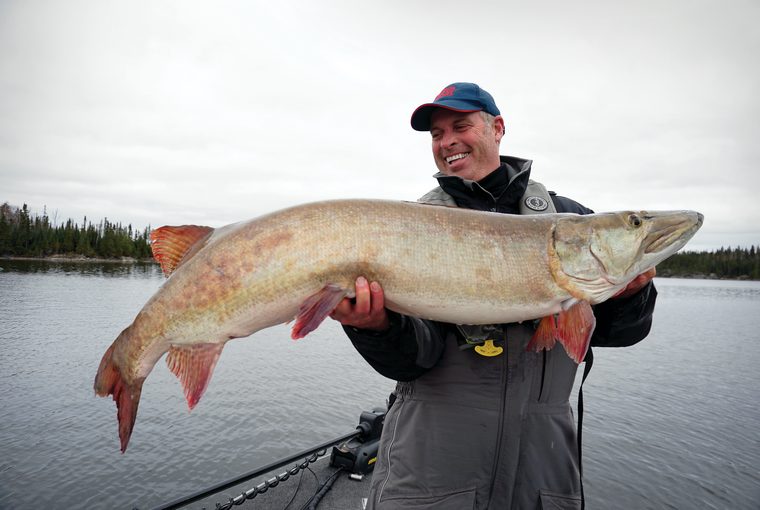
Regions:
<svg viewBox="0 0 760 510"><path fill-rule="evenodd" d="M580 362L591 304L686 244L691 211L516 216L378 200L320 202L219 229L162 227L152 248L171 277L108 348L95 378L113 395L127 448L143 381L165 352L192 409L224 344L295 318L313 331L364 275L386 306L455 324L544 318L528 347L555 340Z"/></svg>

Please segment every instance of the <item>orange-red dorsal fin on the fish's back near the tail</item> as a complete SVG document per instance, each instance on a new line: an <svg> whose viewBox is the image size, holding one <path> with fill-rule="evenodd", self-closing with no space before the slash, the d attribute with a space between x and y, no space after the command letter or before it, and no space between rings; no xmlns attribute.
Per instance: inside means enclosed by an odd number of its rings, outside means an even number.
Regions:
<svg viewBox="0 0 760 510"><path fill-rule="evenodd" d="M213 231L211 227L199 225L166 226L152 231L150 248L153 258L161 264L164 276L168 278L182 262L195 254L203 245L202 241Z"/></svg>

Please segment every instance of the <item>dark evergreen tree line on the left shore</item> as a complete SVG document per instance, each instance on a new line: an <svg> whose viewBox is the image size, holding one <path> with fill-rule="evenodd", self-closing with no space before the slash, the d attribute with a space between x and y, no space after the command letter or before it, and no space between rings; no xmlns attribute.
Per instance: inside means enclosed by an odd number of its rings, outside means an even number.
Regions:
<svg viewBox="0 0 760 510"><path fill-rule="evenodd" d="M32 214L26 204L0 205L0 256L49 257L52 255L95 258L151 258L150 227L136 230L103 219L92 223L66 220L56 225L46 211Z"/></svg>

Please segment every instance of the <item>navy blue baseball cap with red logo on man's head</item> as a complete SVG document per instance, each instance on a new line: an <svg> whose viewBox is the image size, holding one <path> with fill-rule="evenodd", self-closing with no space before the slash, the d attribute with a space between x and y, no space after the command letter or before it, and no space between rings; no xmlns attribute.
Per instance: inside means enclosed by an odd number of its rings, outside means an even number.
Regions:
<svg viewBox="0 0 760 510"><path fill-rule="evenodd" d="M494 117L501 115L491 94L474 83L458 82L443 89L432 103L418 106L412 114L412 128L417 131L430 131L430 116L436 108L455 112L484 111Z"/></svg>

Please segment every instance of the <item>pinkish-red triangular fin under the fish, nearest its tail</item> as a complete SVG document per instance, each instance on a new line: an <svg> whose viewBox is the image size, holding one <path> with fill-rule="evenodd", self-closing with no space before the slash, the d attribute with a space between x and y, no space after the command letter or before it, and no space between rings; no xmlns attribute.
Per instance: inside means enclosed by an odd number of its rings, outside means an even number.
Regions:
<svg viewBox="0 0 760 510"><path fill-rule="evenodd" d="M166 364L182 384L191 410L206 391L223 348L224 344L216 343L172 345L169 348Z"/></svg>

